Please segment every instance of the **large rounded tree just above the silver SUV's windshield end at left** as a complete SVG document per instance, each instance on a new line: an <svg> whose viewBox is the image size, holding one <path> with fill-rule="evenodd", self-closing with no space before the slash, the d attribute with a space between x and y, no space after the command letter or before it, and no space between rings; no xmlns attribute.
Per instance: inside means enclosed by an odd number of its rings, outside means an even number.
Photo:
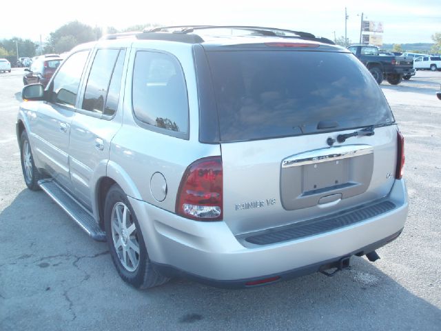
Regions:
<svg viewBox="0 0 441 331"><path fill-rule="evenodd" d="M101 29L98 27L92 28L79 21L72 21L66 23L61 28L54 32L50 32L48 43L44 48L44 52L57 52L56 48L74 47L80 43L87 43L101 38ZM73 44L73 41L75 43ZM72 48L71 47L71 48Z"/></svg>

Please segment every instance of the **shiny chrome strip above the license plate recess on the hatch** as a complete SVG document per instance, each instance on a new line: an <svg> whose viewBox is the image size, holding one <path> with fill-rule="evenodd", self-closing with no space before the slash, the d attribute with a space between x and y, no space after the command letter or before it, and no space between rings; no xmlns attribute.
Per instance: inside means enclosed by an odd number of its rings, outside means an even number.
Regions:
<svg viewBox="0 0 441 331"><path fill-rule="evenodd" d="M348 159L349 157L359 157L371 153L373 153L373 146L371 145L343 145L320 148L294 154L283 159L282 168Z"/></svg>

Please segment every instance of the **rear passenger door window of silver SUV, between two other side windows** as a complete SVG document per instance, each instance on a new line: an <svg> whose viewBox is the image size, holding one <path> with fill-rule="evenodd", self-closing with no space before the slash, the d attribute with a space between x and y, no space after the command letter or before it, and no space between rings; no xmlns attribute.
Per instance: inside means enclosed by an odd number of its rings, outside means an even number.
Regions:
<svg viewBox="0 0 441 331"><path fill-rule="evenodd" d="M92 68L90 69L88 83L85 87L83 105L81 106L84 110L100 114L103 112L107 91L110 86L110 78L112 77L112 72L114 72L119 54L120 50L98 50L96 52ZM121 84L121 74L119 78L120 81L118 83ZM119 89L117 92L119 93ZM119 95L117 98L119 98ZM116 111L116 108L114 111ZM113 112L110 112L110 114L113 114Z"/></svg>

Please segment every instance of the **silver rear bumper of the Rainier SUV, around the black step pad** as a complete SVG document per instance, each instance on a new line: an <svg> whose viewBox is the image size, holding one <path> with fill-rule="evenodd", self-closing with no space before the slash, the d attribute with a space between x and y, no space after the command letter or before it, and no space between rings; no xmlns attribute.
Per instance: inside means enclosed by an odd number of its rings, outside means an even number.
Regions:
<svg viewBox="0 0 441 331"><path fill-rule="evenodd" d="M220 287L254 279L290 279L316 272L342 257L366 254L392 241L407 217L404 181L389 194L396 208L345 228L293 241L246 248L223 221L197 222L130 198L150 259L158 270Z"/></svg>

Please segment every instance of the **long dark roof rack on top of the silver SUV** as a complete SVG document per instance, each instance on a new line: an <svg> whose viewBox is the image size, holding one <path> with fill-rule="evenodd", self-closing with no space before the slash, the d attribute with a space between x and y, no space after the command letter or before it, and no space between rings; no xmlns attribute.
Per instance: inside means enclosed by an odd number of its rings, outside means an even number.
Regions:
<svg viewBox="0 0 441 331"><path fill-rule="evenodd" d="M162 26L153 28L151 30L145 30L144 32L170 32L178 34L189 34L195 32L195 30L213 30L213 29L236 29L236 30L249 30L256 32L261 36L280 37L280 38L294 38L294 39L307 39L320 41L321 43L329 43L334 45L334 41L323 37L316 37L309 32L294 31L279 28L267 28L262 26ZM291 34L291 35L290 35Z"/></svg>

